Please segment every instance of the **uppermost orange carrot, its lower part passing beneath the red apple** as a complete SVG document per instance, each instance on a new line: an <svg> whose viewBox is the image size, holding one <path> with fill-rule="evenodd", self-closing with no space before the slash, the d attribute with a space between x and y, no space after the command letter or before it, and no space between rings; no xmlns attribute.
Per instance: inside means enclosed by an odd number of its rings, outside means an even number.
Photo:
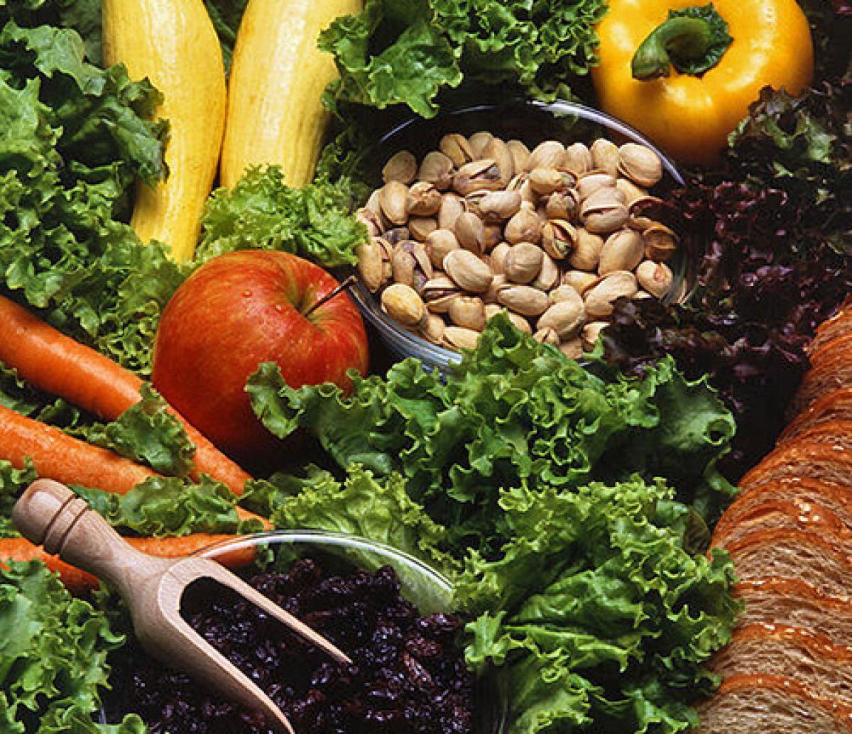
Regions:
<svg viewBox="0 0 852 734"><path fill-rule="evenodd" d="M45 324L14 301L0 296L0 362L14 367L33 386L114 421L141 399L142 381L94 349ZM193 428L170 412L195 444L195 467L241 494L250 474Z"/></svg>

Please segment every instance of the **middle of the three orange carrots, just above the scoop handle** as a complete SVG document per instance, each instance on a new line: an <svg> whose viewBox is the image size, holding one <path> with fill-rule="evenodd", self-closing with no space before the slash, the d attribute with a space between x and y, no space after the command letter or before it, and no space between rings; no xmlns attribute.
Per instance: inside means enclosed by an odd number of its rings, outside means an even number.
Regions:
<svg viewBox="0 0 852 734"><path fill-rule="evenodd" d="M20 468L26 457L44 479L122 495L148 477L158 476L153 469L0 405L0 459Z"/></svg>

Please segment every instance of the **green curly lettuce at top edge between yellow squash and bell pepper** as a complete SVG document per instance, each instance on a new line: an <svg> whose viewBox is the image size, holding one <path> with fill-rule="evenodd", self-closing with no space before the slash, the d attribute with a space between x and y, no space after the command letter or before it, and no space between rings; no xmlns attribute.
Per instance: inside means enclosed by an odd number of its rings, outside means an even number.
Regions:
<svg viewBox="0 0 852 734"><path fill-rule="evenodd" d="M596 63L602 0L367 0L320 34L340 78L325 103L403 104L425 118L442 90L509 84L538 99L570 95Z"/></svg>

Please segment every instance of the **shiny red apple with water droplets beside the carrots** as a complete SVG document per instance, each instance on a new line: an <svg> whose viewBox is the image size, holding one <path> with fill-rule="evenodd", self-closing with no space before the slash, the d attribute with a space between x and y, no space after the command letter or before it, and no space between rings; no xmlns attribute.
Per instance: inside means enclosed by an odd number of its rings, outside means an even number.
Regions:
<svg viewBox="0 0 852 734"><path fill-rule="evenodd" d="M246 249L199 267L160 319L153 384L225 453L262 461L276 446L251 410L246 379L275 362L292 387L367 369L367 337L348 294L321 267L296 255ZM308 313L310 312L310 313Z"/></svg>

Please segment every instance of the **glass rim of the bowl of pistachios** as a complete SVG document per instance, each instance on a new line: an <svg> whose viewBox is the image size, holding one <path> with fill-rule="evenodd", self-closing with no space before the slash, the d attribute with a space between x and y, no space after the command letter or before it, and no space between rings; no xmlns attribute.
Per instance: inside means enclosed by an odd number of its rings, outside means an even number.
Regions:
<svg viewBox="0 0 852 734"><path fill-rule="evenodd" d="M453 118L469 114L471 112L491 112L513 107L527 107L535 112L550 113L556 117L569 117L573 115L576 118L584 119L592 123L598 123L610 131L624 135L625 137L630 138L630 140L634 140L643 146L648 146L648 148L653 150L653 152L659 156L660 161L663 163L665 173L671 176L671 179L674 181L676 186L686 185L686 181L684 180L680 170L677 168L675 162L669 158L665 152L661 151L658 146L655 146L651 140L648 140L648 137L643 135L642 132L622 120L619 120L619 118L613 118L612 115L609 115L606 112L597 110L595 107L580 104L579 102L562 99L543 102L539 100L529 100L518 96L511 96L507 97L505 100L497 102L477 101L460 106L441 108L437 117ZM432 119L422 118L417 114L412 114L402 122L396 123L389 129L385 130L383 134L366 149L363 155L366 156L370 152L376 152L381 149L383 145L403 134L412 126L428 125L432 122ZM360 160L362 159L363 158L360 157ZM683 278L688 280L686 276L683 276ZM688 285L682 300L688 300L689 295L691 295L693 291L694 284ZM447 349L446 347L440 347L439 345L424 339L422 336L418 336L412 331L406 330L404 327L400 326L400 324L396 324L396 322L394 322L391 318L387 317L382 312L375 295L367 290L360 278L355 278L354 286L350 289L350 294L358 306L361 315L366 318L371 326L379 332L383 341L385 341L388 345L390 351L403 357L416 357L429 368L437 367L439 370L452 368L452 366L459 364L462 361L463 353ZM681 295L675 290L674 286L672 287L670 294L667 295L664 300L669 301L673 295Z"/></svg>

